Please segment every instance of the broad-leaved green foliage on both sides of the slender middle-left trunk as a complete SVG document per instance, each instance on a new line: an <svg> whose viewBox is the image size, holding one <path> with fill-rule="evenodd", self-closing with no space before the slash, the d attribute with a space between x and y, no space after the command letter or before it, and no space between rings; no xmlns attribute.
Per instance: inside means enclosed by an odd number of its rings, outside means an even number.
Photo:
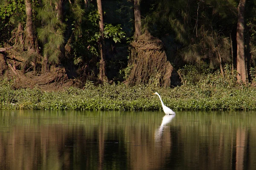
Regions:
<svg viewBox="0 0 256 170"><path fill-rule="evenodd" d="M93 58L99 56L99 14L93 6L85 14L81 25L83 26L82 34L77 36L73 43L75 65L88 64ZM125 37L125 32L122 31L120 24L113 26L104 23L104 34L105 40L113 40L115 43L121 42Z"/></svg>

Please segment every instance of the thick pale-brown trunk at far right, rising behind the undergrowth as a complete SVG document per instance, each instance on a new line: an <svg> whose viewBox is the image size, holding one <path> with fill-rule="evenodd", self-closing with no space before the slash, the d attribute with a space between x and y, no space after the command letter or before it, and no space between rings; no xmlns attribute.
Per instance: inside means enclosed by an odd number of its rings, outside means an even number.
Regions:
<svg viewBox="0 0 256 170"><path fill-rule="evenodd" d="M238 6L238 21L237 21L237 81L242 81L247 84L246 67L245 67L245 56L244 56L244 10L245 1L240 0Z"/></svg>

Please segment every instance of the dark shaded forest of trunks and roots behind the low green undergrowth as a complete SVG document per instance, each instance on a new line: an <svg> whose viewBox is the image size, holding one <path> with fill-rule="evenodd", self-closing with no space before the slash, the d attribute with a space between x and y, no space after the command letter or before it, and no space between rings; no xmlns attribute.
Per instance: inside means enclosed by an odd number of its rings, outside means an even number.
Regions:
<svg viewBox="0 0 256 170"><path fill-rule="evenodd" d="M0 0L0 77L15 88L255 78L256 0ZM189 70L188 70L189 71ZM52 86L49 86L52 85Z"/></svg>

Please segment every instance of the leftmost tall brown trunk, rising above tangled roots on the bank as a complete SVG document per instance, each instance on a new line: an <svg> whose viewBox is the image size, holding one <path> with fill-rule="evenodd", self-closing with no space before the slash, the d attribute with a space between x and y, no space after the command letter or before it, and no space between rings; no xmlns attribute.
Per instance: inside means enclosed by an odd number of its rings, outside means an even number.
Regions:
<svg viewBox="0 0 256 170"><path fill-rule="evenodd" d="M34 40L34 31L33 31L33 20L32 20L32 7L30 0L25 0L26 7L26 46L29 54L35 53L35 40ZM36 57L32 60L31 64L35 70Z"/></svg>

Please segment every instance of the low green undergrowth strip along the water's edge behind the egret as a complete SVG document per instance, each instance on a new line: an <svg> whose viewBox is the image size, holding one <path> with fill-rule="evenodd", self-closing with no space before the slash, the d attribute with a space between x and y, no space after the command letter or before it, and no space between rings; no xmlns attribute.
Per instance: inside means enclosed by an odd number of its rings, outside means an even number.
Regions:
<svg viewBox="0 0 256 170"><path fill-rule="evenodd" d="M256 110L256 89L239 86L229 68L225 69L225 78L218 72L197 77L193 69L188 66L179 71L183 85L175 88L128 87L122 83L95 86L87 82L83 90L71 87L45 92L36 87L14 90L11 81L2 81L0 109L152 111L161 109L158 96L151 95L157 91L174 111Z"/></svg>

